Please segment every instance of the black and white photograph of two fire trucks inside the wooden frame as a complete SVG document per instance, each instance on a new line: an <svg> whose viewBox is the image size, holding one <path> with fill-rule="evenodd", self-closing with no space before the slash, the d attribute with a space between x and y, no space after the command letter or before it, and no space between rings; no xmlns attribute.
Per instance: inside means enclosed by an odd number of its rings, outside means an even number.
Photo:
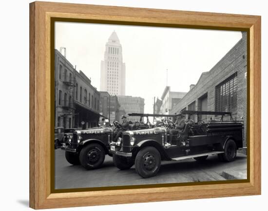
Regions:
<svg viewBox="0 0 268 211"><path fill-rule="evenodd" d="M55 189L247 179L247 32L55 22Z"/></svg>

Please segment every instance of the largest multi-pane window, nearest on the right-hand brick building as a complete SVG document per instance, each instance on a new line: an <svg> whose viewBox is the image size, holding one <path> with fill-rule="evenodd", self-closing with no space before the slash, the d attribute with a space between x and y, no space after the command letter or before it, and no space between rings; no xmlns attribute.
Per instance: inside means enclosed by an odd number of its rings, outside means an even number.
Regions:
<svg viewBox="0 0 268 211"><path fill-rule="evenodd" d="M237 73L216 86L215 111L235 113L237 108Z"/></svg>

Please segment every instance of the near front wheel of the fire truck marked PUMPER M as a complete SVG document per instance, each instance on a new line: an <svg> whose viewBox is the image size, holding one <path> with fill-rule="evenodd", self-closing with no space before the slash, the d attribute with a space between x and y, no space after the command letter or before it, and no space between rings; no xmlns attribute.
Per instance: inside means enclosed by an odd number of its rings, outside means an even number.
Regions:
<svg viewBox="0 0 268 211"><path fill-rule="evenodd" d="M96 143L85 146L79 154L80 163L87 170L99 168L102 165L104 158L104 149Z"/></svg>

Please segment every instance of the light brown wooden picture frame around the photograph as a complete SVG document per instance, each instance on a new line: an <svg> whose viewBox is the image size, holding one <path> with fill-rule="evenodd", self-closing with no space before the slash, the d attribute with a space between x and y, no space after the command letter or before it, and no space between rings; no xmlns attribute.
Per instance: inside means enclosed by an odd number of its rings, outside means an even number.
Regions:
<svg viewBox="0 0 268 211"><path fill-rule="evenodd" d="M53 19L248 32L248 179L55 192L51 185ZM261 17L55 2L30 3L30 207L34 209L261 194ZM124 197L122 197L124 196Z"/></svg>

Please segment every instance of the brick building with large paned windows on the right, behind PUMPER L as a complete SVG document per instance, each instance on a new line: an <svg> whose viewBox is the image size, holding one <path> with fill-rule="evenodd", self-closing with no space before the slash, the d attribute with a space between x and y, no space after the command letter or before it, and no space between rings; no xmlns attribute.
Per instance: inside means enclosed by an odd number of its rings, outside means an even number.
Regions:
<svg viewBox="0 0 268 211"><path fill-rule="evenodd" d="M172 108L181 110L231 112L234 120L244 121L244 143L247 134L247 33L209 71L201 74L190 91ZM188 118L193 118L188 116ZM195 117L197 120L197 117ZM220 116L202 115L204 121ZM224 120L230 120L230 116Z"/></svg>

